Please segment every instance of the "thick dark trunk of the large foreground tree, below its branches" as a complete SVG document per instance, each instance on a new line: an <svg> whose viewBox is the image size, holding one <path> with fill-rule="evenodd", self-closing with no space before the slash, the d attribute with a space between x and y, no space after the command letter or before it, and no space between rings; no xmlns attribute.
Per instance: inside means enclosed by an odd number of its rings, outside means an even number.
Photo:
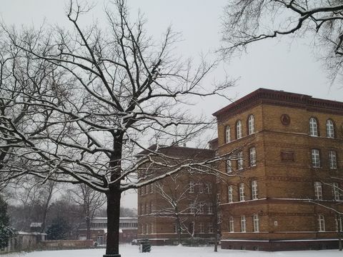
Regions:
<svg viewBox="0 0 343 257"><path fill-rule="evenodd" d="M104 257L119 254L119 217L120 217L120 197L119 186L111 187L107 196L107 243Z"/></svg>

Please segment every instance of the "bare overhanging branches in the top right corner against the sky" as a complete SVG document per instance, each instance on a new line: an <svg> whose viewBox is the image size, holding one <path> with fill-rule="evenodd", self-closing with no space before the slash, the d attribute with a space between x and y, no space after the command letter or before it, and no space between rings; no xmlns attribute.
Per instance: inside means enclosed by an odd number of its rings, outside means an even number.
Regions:
<svg viewBox="0 0 343 257"><path fill-rule="evenodd" d="M224 8L224 54L256 41L309 36L331 79L342 75L343 3L340 0L229 0Z"/></svg>

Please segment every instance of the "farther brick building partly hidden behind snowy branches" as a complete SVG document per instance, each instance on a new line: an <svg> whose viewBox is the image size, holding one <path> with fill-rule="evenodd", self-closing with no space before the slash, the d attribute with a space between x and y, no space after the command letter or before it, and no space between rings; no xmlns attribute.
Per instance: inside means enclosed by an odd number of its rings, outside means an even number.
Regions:
<svg viewBox="0 0 343 257"><path fill-rule="evenodd" d="M155 151L156 145L149 149ZM163 161L176 166L177 162L201 161L214 156L211 149L182 146L160 147L159 153L171 157ZM214 240L215 178L199 172L201 168L184 168L177 174L139 188L138 238L149 238L155 245L177 244L181 239L192 237ZM146 171L148 169L150 171ZM152 171L156 176L169 169L149 164L146 170L141 168L140 174Z"/></svg>

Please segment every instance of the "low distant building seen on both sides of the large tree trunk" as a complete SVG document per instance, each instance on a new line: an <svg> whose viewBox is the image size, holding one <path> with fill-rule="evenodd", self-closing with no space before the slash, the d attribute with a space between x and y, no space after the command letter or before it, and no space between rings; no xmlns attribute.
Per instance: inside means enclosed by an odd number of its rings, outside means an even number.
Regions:
<svg viewBox="0 0 343 257"><path fill-rule="evenodd" d="M121 217L119 221L119 243L130 243L137 237L137 218ZM79 240L86 240L86 228L81 228ZM96 217L91 220L91 240L98 246L106 245L107 218Z"/></svg>

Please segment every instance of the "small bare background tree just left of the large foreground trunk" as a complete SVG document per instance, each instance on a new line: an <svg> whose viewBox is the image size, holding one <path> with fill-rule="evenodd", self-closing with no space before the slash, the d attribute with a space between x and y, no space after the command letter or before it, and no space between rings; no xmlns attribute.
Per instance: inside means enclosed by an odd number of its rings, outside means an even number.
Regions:
<svg viewBox="0 0 343 257"><path fill-rule="evenodd" d="M81 207L86 222L86 239L91 239L91 219L94 218L96 211L106 203L106 196L85 184L77 185L70 189L69 193L72 201Z"/></svg>

